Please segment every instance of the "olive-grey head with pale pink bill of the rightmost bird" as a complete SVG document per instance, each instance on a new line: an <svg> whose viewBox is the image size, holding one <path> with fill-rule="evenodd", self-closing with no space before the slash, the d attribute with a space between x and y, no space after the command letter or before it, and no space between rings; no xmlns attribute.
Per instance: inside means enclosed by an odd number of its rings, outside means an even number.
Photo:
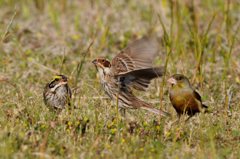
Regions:
<svg viewBox="0 0 240 159"><path fill-rule="evenodd" d="M170 77L167 82L171 84L173 88L188 88L190 86L190 82L188 78L182 74L175 74Z"/></svg>

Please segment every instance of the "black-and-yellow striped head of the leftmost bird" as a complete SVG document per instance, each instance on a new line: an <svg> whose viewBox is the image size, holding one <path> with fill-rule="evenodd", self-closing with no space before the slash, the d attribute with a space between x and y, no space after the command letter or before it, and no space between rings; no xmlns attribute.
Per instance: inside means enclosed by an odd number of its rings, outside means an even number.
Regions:
<svg viewBox="0 0 240 159"><path fill-rule="evenodd" d="M66 85L68 82L68 79L64 75L56 75L53 77L54 79L52 82L48 84L49 89L54 92L57 88Z"/></svg>

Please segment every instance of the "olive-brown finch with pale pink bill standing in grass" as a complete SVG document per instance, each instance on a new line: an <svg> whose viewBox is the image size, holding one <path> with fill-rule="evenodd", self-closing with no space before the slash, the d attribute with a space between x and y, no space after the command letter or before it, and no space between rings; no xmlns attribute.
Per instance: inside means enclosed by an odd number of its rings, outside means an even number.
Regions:
<svg viewBox="0 0 240 159"><path fill-rule="evenodd" d="M191 117L207 108L184 75L175 74L168 79L168 83L171 84L170 100L179 117L185 113Z"/></svg>

